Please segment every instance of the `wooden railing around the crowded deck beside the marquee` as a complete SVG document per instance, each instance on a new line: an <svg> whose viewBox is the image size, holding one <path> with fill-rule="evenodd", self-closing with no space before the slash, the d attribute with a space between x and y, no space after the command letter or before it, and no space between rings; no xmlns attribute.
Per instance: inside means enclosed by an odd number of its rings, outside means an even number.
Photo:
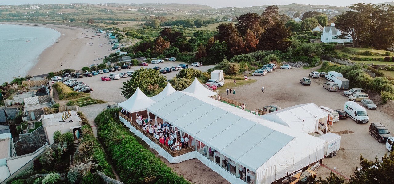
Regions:
<svg viewBox="0 0 394 184"><path fill-rule="evenodd" d="M167 145L160 143L160 141L158 141L156 138L154 138L151 134L149 134L148 132L144 131L140 126L138 126L138 124L136 122L132 122L130 120L130 118L128 118L126 115L119 113L120 117L123 117L123 119L125 119L126 121L130 122L130 124L132 126L134 126L134 128L136 128L139 132L143 133L143 135L145 135L146 137L148 137L149 139L151 139L152 142L156 143L157 145L160 146L160 148L162 148L163 150L165 150L166 152L170 153L171 156L176 157L179 155L183 155L185 153L189 153L189 152L193 152L195 149L193 146L189 147L189 148L185 148L182 150L171 150ZM179 144L180 145L180 144Z"/></svg>

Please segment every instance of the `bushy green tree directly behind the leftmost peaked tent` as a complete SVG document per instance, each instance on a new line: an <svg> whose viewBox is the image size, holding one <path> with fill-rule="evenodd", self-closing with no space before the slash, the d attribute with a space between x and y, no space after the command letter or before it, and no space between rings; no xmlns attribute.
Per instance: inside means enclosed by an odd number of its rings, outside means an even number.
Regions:
<svg viewBox="0 0 394 184"><path fill-rule="evenodd" d="M121 94L126 98L130 98L136 92L137 87L139 87L142 92L149 95L151 93L148 90L149 85L161 85L165 80L165 77L158 70L143 68L134 70L133 77L123 82Z"/></svg>

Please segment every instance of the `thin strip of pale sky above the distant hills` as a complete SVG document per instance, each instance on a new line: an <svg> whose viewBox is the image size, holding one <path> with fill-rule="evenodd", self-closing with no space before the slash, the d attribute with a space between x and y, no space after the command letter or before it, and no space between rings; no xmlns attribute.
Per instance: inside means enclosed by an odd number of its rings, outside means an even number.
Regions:
<svg viewBox="0 0 394 184"><path fill-rule="evenodd" d="M182 4L205 4L210 7L248 7L259 5L286 5L286 4L322 4L333 6L348 6L355 3L383 3L390 0L0 0L1 5L14 4L71 4L71 3L182 3Z"/></svg>

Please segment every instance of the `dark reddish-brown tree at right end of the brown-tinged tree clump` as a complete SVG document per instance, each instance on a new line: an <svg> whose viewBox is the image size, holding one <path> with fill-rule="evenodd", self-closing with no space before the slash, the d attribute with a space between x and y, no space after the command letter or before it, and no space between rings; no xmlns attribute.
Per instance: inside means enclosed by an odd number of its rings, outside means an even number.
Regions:
<svg viewBox="0 0 394 184"><path fill-rule="evenodd" d="M266 29L258 42L260 50L280 50L284 51L290 46L288 38L292 35L290 29L284 27L281 22L275 23Z"/></svg>

